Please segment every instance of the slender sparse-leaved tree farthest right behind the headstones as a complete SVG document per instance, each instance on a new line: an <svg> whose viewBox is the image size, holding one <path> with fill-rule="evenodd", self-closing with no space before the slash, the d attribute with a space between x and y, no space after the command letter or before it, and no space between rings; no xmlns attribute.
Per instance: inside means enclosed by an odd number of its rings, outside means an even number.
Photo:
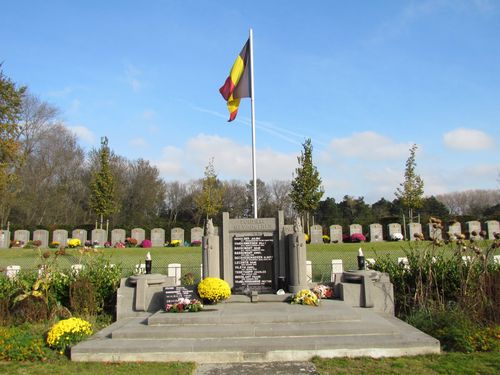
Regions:
<svg viewBox="0 0 500 375"><path fill-rule="evenodd" d="M408 209L408 217L413 222L413 210L422 207L422 198L424 195L424 181L415 172L417 163L415 162L415 153L417 145L410 148L410 156L406 160L405 180L400 184L400 188L394 193L401 200L403 207Z"/></svg>

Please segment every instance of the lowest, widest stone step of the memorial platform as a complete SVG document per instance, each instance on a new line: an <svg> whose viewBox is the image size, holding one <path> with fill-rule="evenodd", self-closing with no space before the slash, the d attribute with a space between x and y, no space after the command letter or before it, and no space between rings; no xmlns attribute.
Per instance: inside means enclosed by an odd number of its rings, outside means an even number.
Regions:
<svg viewBox="0 0 500 375"><path fill-rule="evenodd" d="M194 361L198 363L301 361L318 355L396 356L439 353L439 342L411 332L258 338L88 340L71 350L73 361Z"/></svg>

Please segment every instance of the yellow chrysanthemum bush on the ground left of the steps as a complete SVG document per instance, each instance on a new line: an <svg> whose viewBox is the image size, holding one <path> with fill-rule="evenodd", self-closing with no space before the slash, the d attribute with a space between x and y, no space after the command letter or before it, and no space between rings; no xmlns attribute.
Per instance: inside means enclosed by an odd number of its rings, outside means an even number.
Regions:
<svg viewBox="0 0 500 375"><path fill-rule="evenodd" d="M77 344L92 334L89 322L80 318L69 318L54 324L47 334L47 344L64 354L66 348Z"/></svg>

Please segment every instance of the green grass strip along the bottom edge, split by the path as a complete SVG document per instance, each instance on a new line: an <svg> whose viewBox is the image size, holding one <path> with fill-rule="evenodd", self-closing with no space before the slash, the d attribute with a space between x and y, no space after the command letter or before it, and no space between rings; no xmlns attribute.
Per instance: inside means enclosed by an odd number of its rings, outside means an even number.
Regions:
<svg viewBox="0 0 500 375"><path fill-rule="evenodd" d="M319 374L498 374L500 353L446 353L399 358L313 358ZM0 362L6 374L193 374L193 363Z"/></svg>

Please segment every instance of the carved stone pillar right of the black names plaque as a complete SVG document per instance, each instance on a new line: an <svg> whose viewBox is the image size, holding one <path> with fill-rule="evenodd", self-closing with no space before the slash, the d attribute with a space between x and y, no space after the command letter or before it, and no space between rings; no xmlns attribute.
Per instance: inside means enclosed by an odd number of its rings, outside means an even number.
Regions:
<svg viewBox="0 0 500 375"><path fill-rule="evenodd" d="M300 219L295 219L294 233L288 236L288 251L290 260L289 292L297 293L308 289L306 269L306 241Z"/></svg>

